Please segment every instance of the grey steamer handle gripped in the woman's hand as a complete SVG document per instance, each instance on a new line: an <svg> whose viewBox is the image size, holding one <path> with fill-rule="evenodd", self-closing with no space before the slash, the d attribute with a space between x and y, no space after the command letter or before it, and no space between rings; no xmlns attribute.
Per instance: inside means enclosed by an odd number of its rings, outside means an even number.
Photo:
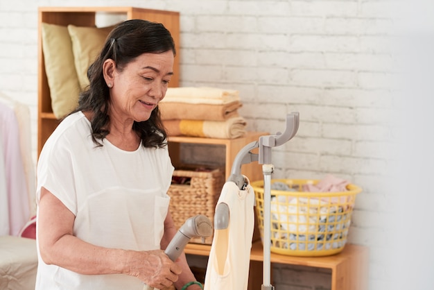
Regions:
<svg viewBox="0 0 434 290"><path fill-rule="evenodd" d="M180 230L177 231L164 253L166 253L172 261L175 261L180 257L184 247L189 243L190 239L193 237L200 237L202 238L202 241L204 241L206 237L211 236L212 232L212 223L207 216L202 214L192 216L187 219L184 225L181 226ZM145 284L144 290L154 290L154 288Z"/></svg>

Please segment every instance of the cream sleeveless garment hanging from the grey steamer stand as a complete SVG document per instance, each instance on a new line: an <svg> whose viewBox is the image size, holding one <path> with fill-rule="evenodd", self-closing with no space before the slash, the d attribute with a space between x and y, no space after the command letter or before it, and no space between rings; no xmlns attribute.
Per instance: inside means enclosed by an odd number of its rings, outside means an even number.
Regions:
<svg viewBox="0 0 434 290"><path fill-rule="evenodd" d="M245 177L244 177L245 178ZM209 253L205 290L248 288L250 250L254 228L254 190L248 182L240 190L234 182L223 185L217 205L229 207L229 225L215 230Z"/></svg>

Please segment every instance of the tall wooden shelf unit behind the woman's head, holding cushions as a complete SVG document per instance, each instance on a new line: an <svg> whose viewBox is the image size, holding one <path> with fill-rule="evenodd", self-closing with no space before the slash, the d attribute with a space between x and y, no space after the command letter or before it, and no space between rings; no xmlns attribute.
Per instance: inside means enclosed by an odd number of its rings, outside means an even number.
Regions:
<svg viewBox="0 0 434 290"><path fill-rule="evenodd" d="M46 78L44 53L42 51L42 23L67 26L95 26L97 13L125 15L125 19L146 19L159 22L171 32L177 56L173 64L174 75L171 87L178 87L180 81L180 13L134 7L40 7L38 10L38 106L37 106L37 155L39 156L46 139L58 126L51 109L50 89Z"/></svg>

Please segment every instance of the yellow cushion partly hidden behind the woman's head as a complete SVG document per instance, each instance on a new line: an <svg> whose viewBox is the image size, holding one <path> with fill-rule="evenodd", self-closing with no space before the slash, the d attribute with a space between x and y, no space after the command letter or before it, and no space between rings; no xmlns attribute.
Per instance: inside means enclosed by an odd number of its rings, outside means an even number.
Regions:
<svg viewBox="0 0 434 290"><path fill-rule="evenodd" d="M114 26L96 28L68 25L74 63L81 89L85 89L89 85L87 69L103 49L105 39L113 28Z"/></svg>

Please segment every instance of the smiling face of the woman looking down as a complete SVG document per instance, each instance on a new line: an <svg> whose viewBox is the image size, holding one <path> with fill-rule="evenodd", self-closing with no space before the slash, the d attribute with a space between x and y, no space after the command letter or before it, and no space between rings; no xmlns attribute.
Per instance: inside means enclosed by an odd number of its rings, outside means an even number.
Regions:
<svg viewBox="0 0 434 290"><path fill-rule="evenodd" d="M173 75L173 60L172 51L144 53L122 71L114 69L110 89L110 119L148 120L166 94Z"/></svg>

